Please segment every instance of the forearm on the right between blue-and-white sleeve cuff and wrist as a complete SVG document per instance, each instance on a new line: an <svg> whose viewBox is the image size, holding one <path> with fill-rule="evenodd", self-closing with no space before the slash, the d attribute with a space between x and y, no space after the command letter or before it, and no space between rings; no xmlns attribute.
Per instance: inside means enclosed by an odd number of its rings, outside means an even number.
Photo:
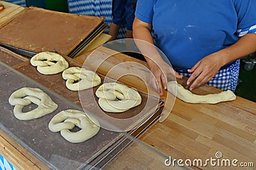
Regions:
<svg viewBox="0 0 256 170"><path fill-rule="evenodd" d="M241 37L236 43L222 49L219 52L221 65L224 66L231 61L236 61L256 51L256 34L247 34Z"/></svg>

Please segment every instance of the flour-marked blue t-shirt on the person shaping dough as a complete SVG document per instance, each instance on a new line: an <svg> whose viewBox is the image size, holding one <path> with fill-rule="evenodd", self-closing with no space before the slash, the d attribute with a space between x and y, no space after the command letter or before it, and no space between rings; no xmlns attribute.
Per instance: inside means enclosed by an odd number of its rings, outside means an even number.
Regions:
<svg viewBox="0 0 256 170"><path fill-rule="evenodd" d="M187 70L255 28L256 0L138 0L135 16L152 24L173 68Z"/></svg>

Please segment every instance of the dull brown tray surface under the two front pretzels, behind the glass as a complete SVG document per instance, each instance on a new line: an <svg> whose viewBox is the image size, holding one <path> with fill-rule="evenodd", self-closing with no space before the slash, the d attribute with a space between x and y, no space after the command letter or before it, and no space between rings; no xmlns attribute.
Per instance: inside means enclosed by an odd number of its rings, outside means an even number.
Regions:
<svg viewBox="0 0 256 170"><path fill-rule="evenodd" d="M65 109L81 109L69 100L60 97L41 84L28 79L21 73L15 73L0 64L0 128L10 135L17 143L35 155L39 160L51 169L76 169L88 160L106 150L114 144L122 135L100 128L98 134L83 143L69 143L60 133L51 132L48 128L49 121L60 111ZM8 103L8 98L13 91L22 87L40 88L47 93L56 104L58 109L42 118L28 121L20 121L13 115L13 106ZM36 107L31 104L24 107Z"/></svg>

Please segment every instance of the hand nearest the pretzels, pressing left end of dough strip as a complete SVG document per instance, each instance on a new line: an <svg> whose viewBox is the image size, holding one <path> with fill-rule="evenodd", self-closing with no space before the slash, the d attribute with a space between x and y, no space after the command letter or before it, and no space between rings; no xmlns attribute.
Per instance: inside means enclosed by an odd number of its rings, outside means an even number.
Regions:
<svg viewBox="0 0 256 170"><path fill-rule="evenodd" d="M175 70L173 70L173 68L164 61L161 61L157 64L154 61L151 61L148 62L148 65L150 67L151 72L154 74L154 77L150 78L150 85L152 86L152 88L157 90L159 95L163 95L163 86L164 89L167 89L168 74L171 74L178 79L182 79L182 75L179 75L179 73L175 72Z"/></svg>

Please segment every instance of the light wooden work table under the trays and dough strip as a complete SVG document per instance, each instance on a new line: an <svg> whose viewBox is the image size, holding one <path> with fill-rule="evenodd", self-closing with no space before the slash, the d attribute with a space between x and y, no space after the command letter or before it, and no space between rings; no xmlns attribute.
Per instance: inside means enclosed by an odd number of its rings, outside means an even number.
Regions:
<svg viewBox="0 0 256 170"><path fill-rule="evenodd" d="M2 3L3 1L0 1ZM1 12L0 12L1 16ZM0 19L2 19L0 17ZM110 49L97 50L102 57L111 54ZM88 52L77 58L83 63ZM131 58L124 54L116 54L108 58L99 68L100 73L106 74L113 66L124 61L135 61L147 66L147 63ZM126 69L126 68L124 68ZM129 68L127 68L129 69ZM137 85L143 90L143 83L134 77L125 77L123 82ZM134 83L136 82L136 83ZM217 93L219 89L202 86L195 93ZM167 92L163 98L168 107ZM172 109L172 108L169 108ZM203 162L216 158L221 152L219 160L237 159L241 162L253 162L256 166L256 103L237 97L232 102L220 104L188 104L178 98L175 100L170 116L157 122L150 130L140 137L140 141L128 148L120 157L111 162L106 169L173 169L165 166L164 161L169 156L182 160L202 159ZM47 169L32 153L24 150L12 138L0 132L0 154L18 169ZM184 162L183 162L184 164ZM234 169L234 166L186 166L191 169ZM179 168L177 165L175 168ZM248 167L253 169L253 167Z"/></svg>

